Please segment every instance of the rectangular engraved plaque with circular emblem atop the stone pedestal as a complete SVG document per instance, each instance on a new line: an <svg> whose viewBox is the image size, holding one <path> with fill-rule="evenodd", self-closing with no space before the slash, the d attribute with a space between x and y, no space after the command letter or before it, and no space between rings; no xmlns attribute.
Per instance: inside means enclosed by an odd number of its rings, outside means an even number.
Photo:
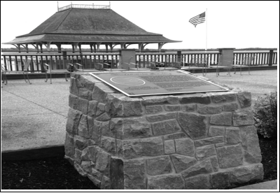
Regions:
<svg viewBox="0 0 280 193"><path fill-rule="evenodd" d="M127 96L228 91L225 87L209 83L185 71L115 71L90 74Z"/></svg>

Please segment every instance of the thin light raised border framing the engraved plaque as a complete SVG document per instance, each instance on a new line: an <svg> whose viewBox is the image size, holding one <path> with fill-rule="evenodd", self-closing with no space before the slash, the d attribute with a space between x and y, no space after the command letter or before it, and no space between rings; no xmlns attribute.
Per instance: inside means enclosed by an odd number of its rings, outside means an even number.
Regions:
<svg viewBox="0 0 280 193"><path fill-rule="evenodd" d="M114 89L122 92L126 96L153 96L153 95L166 95L166 94L186 94L186 93L202 93L202 92L207 92L205 90L201 90L201 91L199 90L199 91L195 91L195 92L193 92L193 91L185 91L185 92L166 92L166 93L155 93L155 94L128 94L127 92L124 92L123 90L119 89L118 87L116 87L114 85L111 85L111 83L108 83L106 80L103 80L102 78L99 78L98 76L94 75L94 73L135 73L135 72L145 73L145 72L153 72L153 71L106 71L106 72L92 72L92 73L90 73L90 75L94 76L94 78L97 78L98 80L101 80L102 83L106 83L107 85L113 87ZM202 81L204 81L206 83L209 83L209 81L207 81L207 80L204 80L202 78L198 78L197 76L194 76L192 73L187 73L186 71L182 71L182 70L178 70L178 71L159 71L159 72L181 72L181 73L186 73L189 76L192 76L193 78L197 78L197 79L202 80ZM210 83L210 84L216 85L217 87L221 87L224 90L211 90L211 91L209 90L208 92L226 92L226 91L229 91L228 88L222 87L221 85L217 85L215 83Z"/></svg>

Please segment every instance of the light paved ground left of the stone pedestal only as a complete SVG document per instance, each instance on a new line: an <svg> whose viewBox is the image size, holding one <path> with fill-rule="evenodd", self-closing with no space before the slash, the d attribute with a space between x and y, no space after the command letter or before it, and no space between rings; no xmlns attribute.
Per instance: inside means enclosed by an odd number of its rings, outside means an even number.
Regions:
<svg viewBox="0 0 280 193"><path fill-rule="evenodd" d="M1 83L1 153L64 144L70 81L44 80Z"/></svg>

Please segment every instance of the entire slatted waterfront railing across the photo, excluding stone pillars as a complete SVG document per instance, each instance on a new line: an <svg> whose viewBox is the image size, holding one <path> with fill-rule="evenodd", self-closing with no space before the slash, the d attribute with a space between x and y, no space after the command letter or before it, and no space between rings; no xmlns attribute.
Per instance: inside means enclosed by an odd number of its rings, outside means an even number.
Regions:
<svg viewBox="0 0 280 193"><path fill-rule="evenodd" d="M265 51L234 51L234 62L233 64L239 64L240 59L242 59L246 54L256 55L253 60L252 65L272 65L277 64L277 52L275 50L265 50ZM181 66L188 65L191 62L192 57L205 57L209 56L208 66L218 64L220 52L218 51L200 51L200 52L136 52L136 62L139 66L146 67L148 62L164 63L165 66L172 66L172 62L180 61ZM50 64L52 69L66 69L66 64L68 63L79 63L83 64L84 69L94 69L95 63L107 63L111 64L112 69L118 67L118 62L120 59L120 52L118 51L82 51L82 52L72 52L72 51L40 51L40 52L10 52L1 51L1 64L8 71L22 71L24 62L27 57L31 57L31 65L29 66L30 72L43 72L43 64ZM77 68L80 68L77 66Z"/></svg>

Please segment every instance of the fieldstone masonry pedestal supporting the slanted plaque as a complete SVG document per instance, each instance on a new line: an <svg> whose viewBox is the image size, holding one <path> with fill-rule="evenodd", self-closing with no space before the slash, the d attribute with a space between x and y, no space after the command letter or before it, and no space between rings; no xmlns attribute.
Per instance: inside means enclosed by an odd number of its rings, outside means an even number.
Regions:
<svg viewBox="0 0 280 193"><path fill-rule="evenodd" d="M101 189L216 189L263 178L249 92L130 98L72 74L69 106L65 157Z"/></svg>

